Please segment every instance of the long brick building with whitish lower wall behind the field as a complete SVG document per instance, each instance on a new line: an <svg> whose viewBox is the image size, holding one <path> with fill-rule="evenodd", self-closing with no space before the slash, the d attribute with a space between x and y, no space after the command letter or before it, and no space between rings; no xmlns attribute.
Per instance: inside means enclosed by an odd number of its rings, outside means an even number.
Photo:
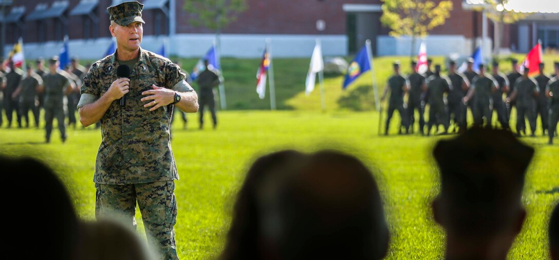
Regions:
<svg viewBox="0 0 559 260"><path fill-rule="evenodd" d="M123 0L0 0L11 1L4 11L6 46L9 50L23 37L26 57L58 54L64 35L70 39L70 55L101 57L111 41L106 8ZM214 42L214 32L193 27L195 15L183 9L188 0L139 0L144 6L142 46L158 50L163 44L171 55L202 55ZM437 1L437 0L435 0ZM482 14L468 8L473 0L452 0L446 24L425 38L430 55L469 55L482 35ZM348 55L370 38L375 55L409 55L411 40L388 35L381 25L380 0L247 0L248 9L221 32L221 55L259 57L266 38L274 56L310 56L315 38L324 55ZM324 21L323 31L317 21ZM486 46L491 46L493 26L487 23ZM505 26L504 49L524 52L541 38L544 46L559 46L559 14L537 13L515 25ZM417 43L419 45L419 41ZM417 49L417 48L415 48ZM489 51L489 48L487 48Z"/></svg>

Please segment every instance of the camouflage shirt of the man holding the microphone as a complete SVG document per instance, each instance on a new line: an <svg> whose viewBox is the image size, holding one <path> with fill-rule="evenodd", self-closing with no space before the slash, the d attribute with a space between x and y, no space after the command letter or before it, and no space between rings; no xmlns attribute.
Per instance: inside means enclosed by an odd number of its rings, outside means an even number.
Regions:
<svg viewBox="0 0 559 260"><path fill-rule="evenodd" d="M82 95L101 97L118 79L116 53L95 62L83 79ZM153 112L141 102L142 92L155 84L172 89L186 78L169 59L140 49L131 68L130 92L126 106L115 100L101 118L101 146L97 153L93 181L97 184L139 184L178 180L177 167L170 147L169 127L173 105ZM83 96L82 96L83 97Z"/></svg>

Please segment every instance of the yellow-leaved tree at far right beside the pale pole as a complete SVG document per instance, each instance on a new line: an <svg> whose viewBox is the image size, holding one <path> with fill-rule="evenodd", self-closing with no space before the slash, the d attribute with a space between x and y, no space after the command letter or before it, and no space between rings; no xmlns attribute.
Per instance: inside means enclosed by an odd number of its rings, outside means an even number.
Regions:
<svg viewBox="0 0 559 260"><path fill-rule="evenodd" d="M517 13L506 9L510 0L484 1L488 4L488 7L486 8L486 11L488 11L487 17L489 17L495 25L495 49L493 50L493 56L498 56L501 49L501 42L503 42L505 24L515 23L522 20L527 16L527 13Z"/></svg>

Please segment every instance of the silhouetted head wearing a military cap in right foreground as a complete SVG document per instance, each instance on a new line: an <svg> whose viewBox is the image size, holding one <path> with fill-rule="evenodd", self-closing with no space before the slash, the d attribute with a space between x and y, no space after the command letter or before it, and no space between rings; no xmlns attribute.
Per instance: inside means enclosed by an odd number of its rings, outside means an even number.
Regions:
<svg viewBox="0 0 559 260"><path fill-rule="evenodd" d="M471 128L439 141L433 155L441 189L433 213L447 236L468 243L500 237L506 242L498 251L506 256L525 218L520 198L533 154L504 130Z"/></svg>

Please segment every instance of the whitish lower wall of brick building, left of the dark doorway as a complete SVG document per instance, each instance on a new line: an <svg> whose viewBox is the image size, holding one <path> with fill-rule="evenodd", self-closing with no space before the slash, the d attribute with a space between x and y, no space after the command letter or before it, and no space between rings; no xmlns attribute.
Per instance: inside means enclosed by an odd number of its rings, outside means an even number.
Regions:
<svg viewBox="0 0 559 260"><path fill-rule="evenodd" d="M236 35L224 34L220 37L221 56L239 58L257 58L262 56L266 38L272 40L274 57L310 57L316 38L320 38L324 56L346 56L348 50L345 35ZM215 40L211 34L177 34L170 37L145 36L141 47L157 52L163 42L170 55L180 57L200 57L204 55ZM101 59L104 57L112 38L95 40L70 40L70 56L80 59ZM23 42L26 59L59 55L63 42L44 42L42 44ZM6 46L6 53L12 46Z"/></svg>

